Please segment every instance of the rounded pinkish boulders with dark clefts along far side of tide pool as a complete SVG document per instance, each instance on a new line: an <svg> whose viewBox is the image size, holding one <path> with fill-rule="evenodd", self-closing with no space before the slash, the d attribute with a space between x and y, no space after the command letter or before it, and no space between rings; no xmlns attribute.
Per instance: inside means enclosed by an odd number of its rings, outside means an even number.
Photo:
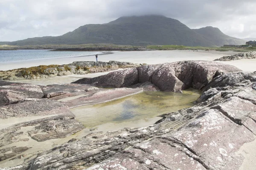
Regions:
<svg viewBox="0 0 256 170"><path fill-rule="evenodd" d="M202 89L212 78L237 71L241 70L218 62L181 61L161 65L144 65L136 69L116 71L95 78L79 79L73 83L119 88L151 82L161 91L179 91L189 87Z"/></svg>

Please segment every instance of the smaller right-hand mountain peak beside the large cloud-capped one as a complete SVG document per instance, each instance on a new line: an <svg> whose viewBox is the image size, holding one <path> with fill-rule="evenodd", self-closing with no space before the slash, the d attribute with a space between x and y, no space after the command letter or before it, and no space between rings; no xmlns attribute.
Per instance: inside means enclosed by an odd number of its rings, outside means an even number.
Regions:
<svg viewBox="0 0 256 170"><path fill-rule="evenodd" d="M204 37L207 40L211 41L212 43L214 43L217 46L223 46L224 44L245 45L244 40L235 38L235 37L230 37L230 36L224 34L223 32L221 32L221 30L219 30L219 28L207 26L204 28L193 29L193 30L196 31L198 34L204 35Z"/></svg>

